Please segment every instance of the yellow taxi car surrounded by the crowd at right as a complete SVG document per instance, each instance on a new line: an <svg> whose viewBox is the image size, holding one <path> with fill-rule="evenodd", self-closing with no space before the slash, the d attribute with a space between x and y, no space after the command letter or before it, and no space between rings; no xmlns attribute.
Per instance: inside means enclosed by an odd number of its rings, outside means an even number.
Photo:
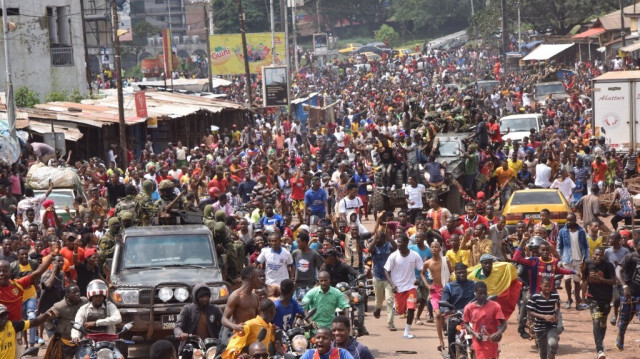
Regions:
<svg viewBox="0 0 640 359"><path fill-rule="evenodd" d="M502 215L507 219L509 232L515 232L516 224L528 219L540 221L540 211L548 209L551 221L563 225L567 223L567 215L573 213L569 202L556 189L525 189L511 194L504 206Z"/></svg>

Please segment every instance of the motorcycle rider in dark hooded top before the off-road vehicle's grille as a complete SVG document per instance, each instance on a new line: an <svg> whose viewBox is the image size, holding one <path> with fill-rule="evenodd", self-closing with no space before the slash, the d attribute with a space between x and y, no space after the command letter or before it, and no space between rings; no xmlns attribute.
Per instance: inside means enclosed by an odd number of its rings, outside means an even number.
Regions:
<svg viewBox="0 0 640 359"><path fill-rule="evenodd" d="M196 284L192 290L193 303L182 307L176 320L173 335L180 339L178 353L189 339L189 335L197 335L201 339L218 338L222 326L222 311L211 304L211 289L204 283Z"/></svg>

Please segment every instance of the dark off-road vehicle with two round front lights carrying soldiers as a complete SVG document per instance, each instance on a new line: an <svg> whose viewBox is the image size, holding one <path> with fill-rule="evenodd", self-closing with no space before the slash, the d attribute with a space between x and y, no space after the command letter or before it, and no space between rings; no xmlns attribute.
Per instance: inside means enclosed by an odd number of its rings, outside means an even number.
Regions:
<svg viewBox="0 0 640 359"><path fill-rule="evenodd" d="M202 224L125 229L111 265L109 298L129 333L144 340L172 335L182 307L193 303L192 289L204 282L211 303L224 305L230 285L222 280L213 235Z"/></svg>

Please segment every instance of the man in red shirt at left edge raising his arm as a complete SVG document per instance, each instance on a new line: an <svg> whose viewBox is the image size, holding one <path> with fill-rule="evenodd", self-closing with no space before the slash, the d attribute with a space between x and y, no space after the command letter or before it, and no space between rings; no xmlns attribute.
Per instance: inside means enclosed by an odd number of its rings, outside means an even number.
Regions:
<svg viewBox="0 0 640 359"><path fill-rule="evenodd" d="M24 289L29 288L35 282L34 279L38 279L47 270L53 257L58 254L59 249L53 247L51 252L53 256L43 260L38 269L18 280L11 279L9 262L0 261L0 304L4 304L9 308L9 320L22 320L22 295Z"/></svg>

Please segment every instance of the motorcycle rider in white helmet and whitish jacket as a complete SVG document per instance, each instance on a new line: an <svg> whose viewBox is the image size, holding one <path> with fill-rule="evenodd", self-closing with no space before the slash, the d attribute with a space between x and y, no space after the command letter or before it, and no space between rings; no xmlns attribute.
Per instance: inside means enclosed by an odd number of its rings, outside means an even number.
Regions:
<svg viewBox="0 0 640 359"><path fill-rule="evenodd" d="M115 304L107 301L109 287L101 280L96 279L87 285L87 298L89 303L83 305L76 313L75 322L81 324L89 333L116 334L116 325L122 322L122 317ZM82 333L75 328L71 330L71 341L78 344ZM76 357L91 356L91 347L79 347ZM120 351L114 347L114 357L123 358Z"/></svg>

